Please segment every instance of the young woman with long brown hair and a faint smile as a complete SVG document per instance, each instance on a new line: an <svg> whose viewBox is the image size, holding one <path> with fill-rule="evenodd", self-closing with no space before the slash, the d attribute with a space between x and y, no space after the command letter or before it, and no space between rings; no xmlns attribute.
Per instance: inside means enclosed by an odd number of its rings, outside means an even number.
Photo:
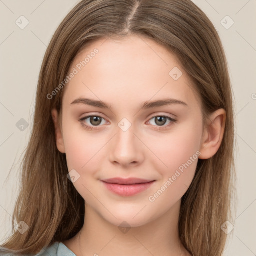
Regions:
<svg viewBox="0 0 256 256"><path fill-rule="evenodd" d="M1 253L222 255L233 136L225 54L193 2L82 0L45 53Z"/></svg>

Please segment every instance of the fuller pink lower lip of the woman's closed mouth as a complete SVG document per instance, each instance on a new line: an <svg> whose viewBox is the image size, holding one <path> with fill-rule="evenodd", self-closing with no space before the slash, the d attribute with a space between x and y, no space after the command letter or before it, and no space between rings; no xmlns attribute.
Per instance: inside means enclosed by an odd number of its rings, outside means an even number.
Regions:
<svg viewBox="0 0 256 256"><path fill-rule="evenodd" d="M104 185L108 190L110 190L115 194L118 194L121 196L131 196L148 189L154 181L150 181L147 183L133 184L133 185L120 185L120 184L114 184L114 183L106 183L104 181L102 182L104 183Z"/></svg>

